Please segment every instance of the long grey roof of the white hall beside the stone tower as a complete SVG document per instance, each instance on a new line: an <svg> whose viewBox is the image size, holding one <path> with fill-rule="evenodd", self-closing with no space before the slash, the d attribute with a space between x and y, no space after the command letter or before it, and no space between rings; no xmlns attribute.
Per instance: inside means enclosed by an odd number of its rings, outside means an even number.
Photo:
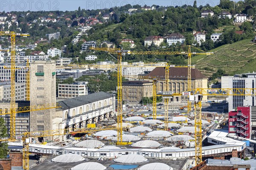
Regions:
<svg viewBox="0 0 256 170"><path fill-rule="evenodd" d="M93 94L88 94L88 95L84 95L84 96L79 96L79 97L74 97L71 99L62 100L62 101L59 101L58 104L61 105L61 108L59 108L59 109L66 110L66 109L75 108L77 106L81 106L81 105L84 105L87 103L96 102L98 100L108 99L113 96L115 96L115 95L100 91L100 92L93 93ZM115 102L115 101L113 101L113 102Z"/></svg>

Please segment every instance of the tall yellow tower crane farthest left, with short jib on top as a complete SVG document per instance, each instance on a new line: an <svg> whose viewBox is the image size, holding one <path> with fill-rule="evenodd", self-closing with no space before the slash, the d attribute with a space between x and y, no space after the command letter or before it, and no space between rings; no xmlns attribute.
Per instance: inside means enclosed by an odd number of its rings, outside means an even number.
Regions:
<svg viewBox="0 0 256 170"><path fill-rule="evenodd" d="M10 137L15 138L16 113L15 113L15 38L16 36L29 36L29 34L20 34L13 31L0 31L0 36L11 37L11 102L10 102Z"/></svg>

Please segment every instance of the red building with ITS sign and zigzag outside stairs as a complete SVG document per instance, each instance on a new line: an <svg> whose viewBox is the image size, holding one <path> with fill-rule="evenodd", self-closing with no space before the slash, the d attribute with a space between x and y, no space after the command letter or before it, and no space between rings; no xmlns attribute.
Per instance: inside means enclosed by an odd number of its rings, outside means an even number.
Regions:
<svg viewBox="0 0 256 170"><path fill-rule="evenodd" d="M236 136L250 139L250 107L237 107L237 111L230 111L228 114L229 133L236 133Z"/></svg>

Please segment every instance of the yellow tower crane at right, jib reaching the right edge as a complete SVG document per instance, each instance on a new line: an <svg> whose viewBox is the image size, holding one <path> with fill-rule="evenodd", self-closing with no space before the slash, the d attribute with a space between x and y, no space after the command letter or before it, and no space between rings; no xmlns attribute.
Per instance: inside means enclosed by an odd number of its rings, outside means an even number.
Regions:
<svg viewBox="0 0 256 170"><path fill-rule="evenodd" d="M195 107L195 164L202 162L202 98L203 96L255 96L256 88L197 88L192 91L191 102ZM163 96L182 96L182 94L162 94Z"/></svg>

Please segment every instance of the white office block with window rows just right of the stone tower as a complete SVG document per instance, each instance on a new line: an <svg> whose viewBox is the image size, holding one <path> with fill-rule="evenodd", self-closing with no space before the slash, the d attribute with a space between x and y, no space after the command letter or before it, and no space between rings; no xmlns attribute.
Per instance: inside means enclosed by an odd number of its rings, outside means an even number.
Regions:
<svg viewBox="0 0 256 170"><path fill-rule="evenodd" d="M88 82L74 82L73 84L58 84L59 98L73 98L88 94Z"/></svg>

